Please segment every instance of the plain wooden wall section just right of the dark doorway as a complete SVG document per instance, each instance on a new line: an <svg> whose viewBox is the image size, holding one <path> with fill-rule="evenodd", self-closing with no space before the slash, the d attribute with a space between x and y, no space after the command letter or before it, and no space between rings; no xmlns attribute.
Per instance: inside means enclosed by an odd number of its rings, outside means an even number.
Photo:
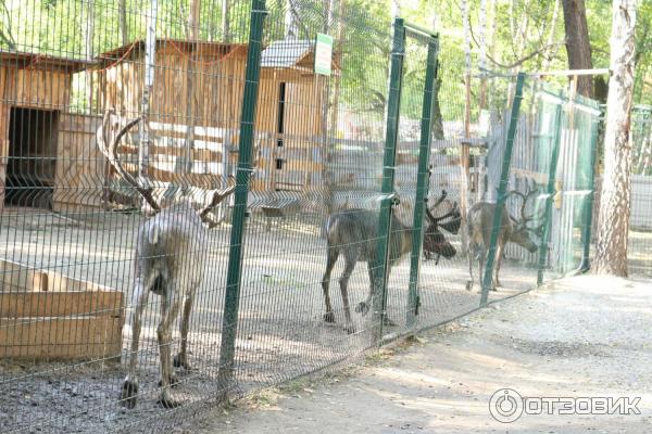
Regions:
<svg viewBox="0 0 652 434"><path fill-rule="evenodd" d="M53 209L76 212L102 206L104 156L98 150L99 116L62 114L54 177Z"/></svg>

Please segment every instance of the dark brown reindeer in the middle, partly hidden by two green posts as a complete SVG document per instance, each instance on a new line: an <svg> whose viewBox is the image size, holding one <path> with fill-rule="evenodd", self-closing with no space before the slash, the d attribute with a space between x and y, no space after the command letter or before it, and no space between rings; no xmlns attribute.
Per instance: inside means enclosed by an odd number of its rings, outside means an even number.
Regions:
<svg viewBox="0 0 652 434"><path fill-rule="evenodd" d="M434 208L443 201L446 194L446 191L442 191L442 195L437 201ZM444 219L452 218L452 221L454 221L460 218L460 210L457 209L456 204L453 206L453 209L441 217L434 217L432 213L428 209L427 218L429 220L429 226L424 234L424 251L436 253L446 258L453 257L456 254L455 247L444 239L439 227ZM365 302L360 302L355 307L356 312L362 315L368 312L374 289L376 288L374 263L377 257L378 221L379 214L377 212L352 208L342 209L330 215L325 225L328 253L326 272L324 272L324 277L322 278L322 290L324 291L324 302L326 304L326 312L323 318L326 322L335 322L335 314L333 311L333 305L330 304L329 283L330 273L341 253L344 256L346 265L344 271L340 277L340 291L344 307L344 331L347 331L347 333L355 332L349 307L348 285L351 273L358 261L367 263L369 293ZM456 228L454 224L450 227L451 230L454 230L454 233L456 233L459 228L459 224ZM414 228L402 224L397 218L392 218L389 240L388 276L392 265L412 251L413 233ZM385 320L388 326L396 326L387 317Z"/></svg>

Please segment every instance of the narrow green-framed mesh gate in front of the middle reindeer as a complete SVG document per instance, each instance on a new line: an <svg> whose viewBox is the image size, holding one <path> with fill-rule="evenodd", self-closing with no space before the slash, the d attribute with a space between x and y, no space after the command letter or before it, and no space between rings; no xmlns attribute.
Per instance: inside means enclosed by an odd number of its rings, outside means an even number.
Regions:
<svg viewBox="0 0 652 434"><path fill-rule="evenodd" d="M392 235L389 245L387 237L379 239L378 254L387 259L387 266L379 269L386 292L384 305L375 309L384 314L378 326L384 330L385 339L414 327L418 312L419 263L429 187L432 90L439 50L437 35L400 18L394 21L393 31L383 177L383 194L389 196L383 200L380 215L380 234L389 233L387 218L391 215ZM410 260L397 263L394 252L401 250L401 244L402 248L411 246ZM392 328L383 329L384 326Z"/></svg>

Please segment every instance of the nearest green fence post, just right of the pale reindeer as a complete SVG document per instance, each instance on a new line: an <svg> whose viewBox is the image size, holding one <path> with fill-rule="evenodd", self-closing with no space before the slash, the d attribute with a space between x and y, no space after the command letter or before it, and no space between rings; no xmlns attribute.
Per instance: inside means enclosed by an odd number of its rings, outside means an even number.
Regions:
<svg viewBox="0 0 652 434"><path fill-rule="evenodd" d="M224 299L224 317L222 320L222 342L220 349L218 382L226 387L233 381L234 359L236 350L236 334L238 329L238 309L240 305L240 281L242 265L242 240L244 219L247 217L247 196L249 178L252 171L251 154L253 149L253 123L258 102L259 78L261 71L261 50L263 24L266 15L265 0L252 0L251 28L249 29L249 53L244 93L242 98L242 114L240 118L240 141L238 152L238 168L236 174L235 207L230 233L228 255L228 271L226 277L226 296Z"/></svg>

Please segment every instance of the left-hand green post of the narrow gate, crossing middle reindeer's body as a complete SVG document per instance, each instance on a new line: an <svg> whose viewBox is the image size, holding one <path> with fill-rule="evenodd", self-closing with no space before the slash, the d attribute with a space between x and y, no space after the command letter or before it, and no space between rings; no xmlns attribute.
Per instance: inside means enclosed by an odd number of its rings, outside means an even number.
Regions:
<svg viewBox="0 0 652 434"><path fill-rule="evenodd" d="M383 195L378 219L378 248L374 267L374 318L375 342L383 337L383 321L387 308L387 269L390 251L391 208L394 202L394 169L397 141L399 136L399 115L401 105L401 81L403 78L403 56L405 54L405 26L403 18L394 18L393 42L391 51L391 74L389 79L389 100L387 105L387 131L385 156L383 158Z"/></svg>

